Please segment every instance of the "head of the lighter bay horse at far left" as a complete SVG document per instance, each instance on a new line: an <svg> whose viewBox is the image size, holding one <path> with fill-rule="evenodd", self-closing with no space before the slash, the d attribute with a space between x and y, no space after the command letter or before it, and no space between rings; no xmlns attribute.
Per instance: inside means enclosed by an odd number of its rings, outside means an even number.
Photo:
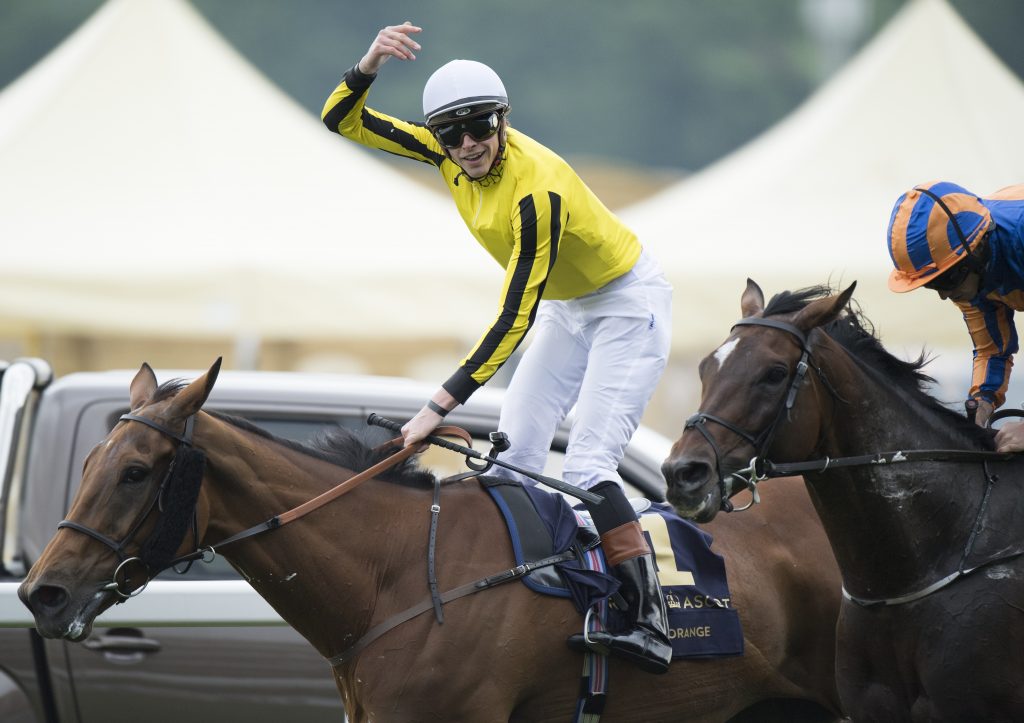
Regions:
<svg viewBox="0 0 1024 723"><path fill-rule="evenodd" d="M44 637L85 638L175 557L189 525L205 525L191 430L219 370L217 359L183 387L158 387L145 364L135 375L131 413L89 453L67 518L18 588Z"/></svg>

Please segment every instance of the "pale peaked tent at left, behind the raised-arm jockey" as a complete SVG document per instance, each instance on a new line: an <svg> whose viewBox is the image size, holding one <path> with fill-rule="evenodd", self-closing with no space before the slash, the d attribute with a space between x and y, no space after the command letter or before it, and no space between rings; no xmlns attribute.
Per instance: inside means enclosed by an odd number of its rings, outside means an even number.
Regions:
<svg viewBox="0 0 1024 723"><path fill-rule="evenodd" d="M4 333L474 337L501 279L184 0L110 0L0 93L0 239Z"/></svg>

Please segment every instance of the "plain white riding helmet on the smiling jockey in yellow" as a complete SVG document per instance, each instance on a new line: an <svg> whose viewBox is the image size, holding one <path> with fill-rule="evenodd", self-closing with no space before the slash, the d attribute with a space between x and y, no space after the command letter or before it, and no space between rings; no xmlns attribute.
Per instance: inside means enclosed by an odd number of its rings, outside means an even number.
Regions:
<svg viewBox="0 0 1024 723"><path fill-rule="evenodd" d="M451 60L423 86L423 116L428 126L508 108L502 79L476 60Z"/></svg>

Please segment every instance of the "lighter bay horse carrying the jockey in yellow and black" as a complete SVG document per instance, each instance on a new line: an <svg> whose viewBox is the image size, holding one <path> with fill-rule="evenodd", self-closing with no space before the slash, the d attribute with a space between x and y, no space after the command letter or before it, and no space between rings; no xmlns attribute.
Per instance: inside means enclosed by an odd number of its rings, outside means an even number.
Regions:
<svg viewBox="0 0 1024 723"><path fill-rule="evenodd" d="M566 599L507 584L446 602L443 624L428 604L366 643L368 631L427 594L433 505L442 510L433 536L441 590L515 566L504 520L477 481L440 484L407 460L274 524L283 510L355 480L380 453L350 434L300 444L203 411L218 370L219 360L191 382L161 385L147 365L135 375L131 413L90 452L67 519L19 588L42 636L83 640L96 615L152 577L139 558L166 566L214 545L325 658L344 657L332 668L353 723L573 720L584 658L566 638L582 616ZM184 492L162 493L167 480ZM744 654L684 658L663 676L609 660L605 720L722 721L759 706L783 720L839 714L838 568L800 553L808 541L824 546L806 492L776 492L758 514L709 528L727 560ZM233 542L221 551L225 539ZM365 647L345 657L357 640Z"/></svg>

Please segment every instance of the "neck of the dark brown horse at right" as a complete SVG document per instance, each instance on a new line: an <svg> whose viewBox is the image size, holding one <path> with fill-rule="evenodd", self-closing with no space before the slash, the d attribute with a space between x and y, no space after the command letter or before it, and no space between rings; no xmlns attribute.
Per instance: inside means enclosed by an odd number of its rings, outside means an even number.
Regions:
<svg viewBox="0 0 1024 723"><path fill-rule="evenodd" d="M824 423L831 459L897 450L966 449L946 419L844 352L825 370L838 395ZM838 365L838 366L837 366ZM956 503L981 483L980 465L895 464L809 474L812 497L848 588L863 596L902 594L955 565L973 522ZM942 503L947 499L949 503ZM941 575L940 575L941 571Z"/></svg>

